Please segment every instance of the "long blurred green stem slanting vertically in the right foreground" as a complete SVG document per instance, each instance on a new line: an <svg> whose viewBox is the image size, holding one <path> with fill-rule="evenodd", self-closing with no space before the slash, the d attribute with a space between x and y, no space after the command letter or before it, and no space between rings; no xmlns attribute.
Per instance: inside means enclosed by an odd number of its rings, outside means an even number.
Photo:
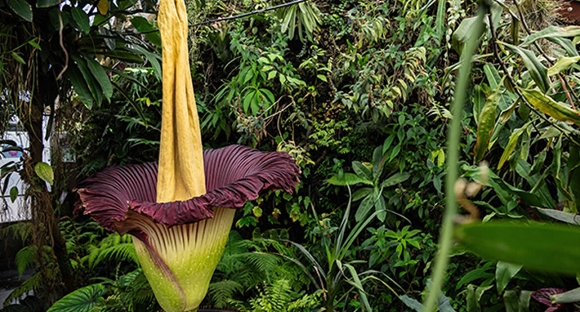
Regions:
<svg viewBox="0 0 580 312"><path fill-rule="evenodd" d="M472 57L478 47L479 38L483 32L483 18L488 11L487 5L482 3L477 12L477 20L474 23L472 36L463 46L461 53L461 68L459 70L458 82L455 88L455 100L453 101L451 112L451 128L447 133L447 176L445 177L445 195L447 204L443 225L439 235L439 251L435 261L435 267L432 273L432 284L429 294L425 300L423 311L431 312L435 310L435 304L439 295L441 285L445 278L445 270L449 263L449 251L451 251L451 236L453 231L453 217L457 211L457 202L455 199L454 186L457 179L457 164L459 159L459 137L461 136L461 119L463 113L463 103L469 87L469 74L472 69Z"/></svg>

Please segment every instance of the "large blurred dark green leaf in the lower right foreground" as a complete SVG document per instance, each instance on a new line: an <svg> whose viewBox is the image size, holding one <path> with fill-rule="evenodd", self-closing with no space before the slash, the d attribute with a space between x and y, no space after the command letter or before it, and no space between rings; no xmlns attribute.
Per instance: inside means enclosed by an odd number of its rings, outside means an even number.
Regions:
<svg viewBox="0 0 580 312"><path fill-rule="evenodd" d="M463 224L455 237L484 259L520 264L528 269L580 272L580 228L559 224L487 222Z"/></svg>

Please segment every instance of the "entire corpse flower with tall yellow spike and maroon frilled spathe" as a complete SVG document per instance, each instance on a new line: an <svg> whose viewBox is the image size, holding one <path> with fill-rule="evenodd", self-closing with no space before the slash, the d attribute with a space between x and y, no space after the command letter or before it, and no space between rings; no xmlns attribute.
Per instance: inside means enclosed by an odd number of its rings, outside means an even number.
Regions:
<svg viewBox="0 0 580 312"><path fill-rule="evenodd" d="M131 234L165 311L195 311L222 255L234 209L265 190L292 192L299 168L287 153L230 146L202 151L183 1L161 0L163 113L159 165L113 167L78 186L85 213Z"/></svg>

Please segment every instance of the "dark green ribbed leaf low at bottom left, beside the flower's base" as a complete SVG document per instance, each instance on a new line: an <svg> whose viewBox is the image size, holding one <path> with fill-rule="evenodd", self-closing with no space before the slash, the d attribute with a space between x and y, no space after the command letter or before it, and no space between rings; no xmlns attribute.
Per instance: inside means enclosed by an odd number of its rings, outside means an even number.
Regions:
<svg viewBox="0 0 580 312"><path fill-rule="evenodd" d="M107 289L103 284L84 286L55 302L47 312L89 312L103 300Z"/></svg>

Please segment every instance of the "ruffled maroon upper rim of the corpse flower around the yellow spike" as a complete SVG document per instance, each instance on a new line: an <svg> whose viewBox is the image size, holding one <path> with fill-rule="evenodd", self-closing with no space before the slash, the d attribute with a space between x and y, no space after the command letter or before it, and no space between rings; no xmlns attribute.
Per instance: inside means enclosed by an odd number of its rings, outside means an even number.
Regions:
<svg viewBox="0 0 580 312"><path fill-rule="evenodd" d="M187 201L155 202L155 162L104 169L79 183L77 191L85 214L107 230L124 234L130 228L121 226L128 211L168 227L194 223L213 217L213 207L241 208L263 191L292 193L300 172L287 153L239 145L204 150L204 170L207 193Z"/></svg>

